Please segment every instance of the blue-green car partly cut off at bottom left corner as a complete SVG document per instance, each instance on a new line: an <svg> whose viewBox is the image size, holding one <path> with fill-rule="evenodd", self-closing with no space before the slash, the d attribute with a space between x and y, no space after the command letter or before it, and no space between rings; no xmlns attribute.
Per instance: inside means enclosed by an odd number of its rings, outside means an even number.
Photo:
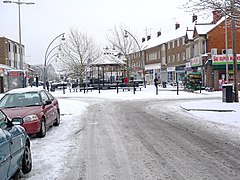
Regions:
<svg viewBox="0 0 240 180"><path fill-rule="evenodd" d="M19 125L15 126L13 122L0 110L1 180L10 179L20 170L23 174L27 174L32 169L30 139L25 129Z"/></svg>

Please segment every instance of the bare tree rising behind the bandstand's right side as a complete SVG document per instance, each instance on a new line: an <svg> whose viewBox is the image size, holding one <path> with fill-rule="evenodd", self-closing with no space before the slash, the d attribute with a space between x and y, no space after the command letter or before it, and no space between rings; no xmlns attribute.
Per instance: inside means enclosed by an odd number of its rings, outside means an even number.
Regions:
<svg viewBox="0 0 240 180"><path fill-rule="evenodd" d="M121 53L126 59L127 76L130 77L131 59L129 54L139 51L138 42L132 36L126 37L125 28L122 25L114 26L111 33L107 35L109 43L116 51Z"/></svg>

